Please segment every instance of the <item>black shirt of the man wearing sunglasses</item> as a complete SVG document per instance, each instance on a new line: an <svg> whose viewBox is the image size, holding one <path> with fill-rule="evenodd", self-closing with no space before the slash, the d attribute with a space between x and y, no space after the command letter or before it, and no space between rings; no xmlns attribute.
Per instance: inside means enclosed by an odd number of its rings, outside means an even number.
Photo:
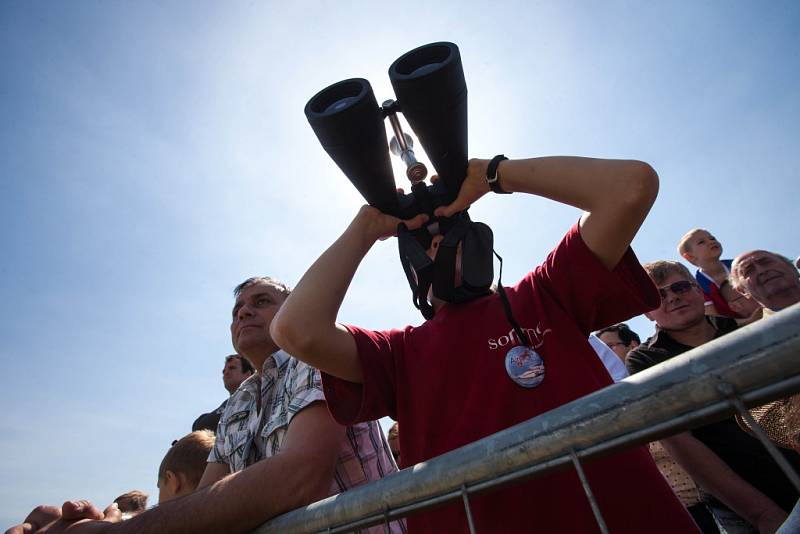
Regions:
<svg viewBox="0 0 800 534"><path fill-rule="evenodd" d="M708 317L715 328L714 338L736 329L736 321L727 317ZM665 362L694 347L675 341L663 331L656 334L628 353L625 366L631 374ZM733 417L709 425L694 428L692 435L714 451L736 474L767 495L778 506L790 512L798 499L798 493L780 467L756 438L736 424ZM795 471L800 471L800 455L794 451L780 449Z"/></svg>

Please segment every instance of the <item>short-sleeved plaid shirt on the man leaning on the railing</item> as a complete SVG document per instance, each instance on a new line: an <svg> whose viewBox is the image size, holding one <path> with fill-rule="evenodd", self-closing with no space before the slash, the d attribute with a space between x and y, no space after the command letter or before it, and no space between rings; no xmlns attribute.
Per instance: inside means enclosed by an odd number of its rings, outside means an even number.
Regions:
<svg viewBox="0 0 800 534"><path fill-rule="evenodd" d="M261 385L261 412L256 396ZM267 358L260 375L242 382L231 395L217 427L217 440L208 456L228 464L231 472L274 456L292 418L314 402L325 402L319 371L278 351ZM347 427L342 440L330 495L341 493L397 471L389 445L376 421ZM392 523L392 531L405 531ZM374 527L383 532L383 527ZM370 529L371 531L372 529Z"/></svg>

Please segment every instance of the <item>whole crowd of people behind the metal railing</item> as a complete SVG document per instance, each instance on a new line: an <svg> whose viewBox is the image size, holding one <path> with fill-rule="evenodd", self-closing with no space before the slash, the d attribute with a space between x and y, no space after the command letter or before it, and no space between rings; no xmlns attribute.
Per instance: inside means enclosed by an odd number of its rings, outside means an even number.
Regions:
<svg viewBox="0 0 800 534"><path fill-rule="evenodd" d="M266 276L236 287L230 325L236 354L223 370L229 397L167 451L157 506L144 510L139 499L122 521L124 496L103 511L87 501L43 505L8 532L246 532L800 302L800 277L790 260L761 250L722 260L721 245L702 229L678 244L697 267L694 276L677 261L641 265L630 243L658 191L658 177L645 163L493 162L492 168L489 160L471 160L458 197L434 216L452 217L492 190L583 211L521 281L458 304L431 294L435 314L417 327L373 331L339 323L361 260L401 223L365 206L294 290ZM429 222L425 214L403 221L410 230ZM447 245L443 239L432 236L432 261ZM454 255L456 284L465 283L460 254ZM640 314L655 323L645 341L622 322ZM792 399L781 406L790 413ZM385 416L397 421L388 441L377 423ZM800 456L790 447L800 449L797 436L776 440L795 468ZM584 469L613 533L797 531L797 518L789 517L796 490L734 419L594 459ZM598 528L570 471L471 497L470 508L480 532ZM460 502L388 528L469 531Z"/></svg>

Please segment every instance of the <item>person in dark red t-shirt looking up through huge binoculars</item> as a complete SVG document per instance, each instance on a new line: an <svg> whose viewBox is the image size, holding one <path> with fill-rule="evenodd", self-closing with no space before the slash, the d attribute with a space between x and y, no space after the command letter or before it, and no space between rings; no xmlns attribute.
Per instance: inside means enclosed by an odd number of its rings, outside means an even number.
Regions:
<svg viewBox="0 0 800 534"><path fill-rule="evenodd" d="M610 385L589 346L589 333L658 305L655 288L629 249L657 193L658 178L649 165L501 156L492 163L498 161L495 173L489 160L471 160L456 200L434 215L453 216L490 189L539 195L585 210L544 264L506 288L505 295L500 291L462 304L433 297L435 316L402 330L338 324L339 307L362 258L400 222L364 206L311 266L272 325L279 346L323 371L328 406L340 423L384 415L398 420L403 465ZM419 215L405 224L413 230L426 221ZM435 232L434 225L426 228ZM433 236L428 249L434 260L441 240ZM506 343L499 343L501 338ZM696 531L646 449L587 462L585 471L611 532ZM623 500L619 488L636 491ZM470 497L470 507L478 532L597 529L579 479L569 471ZM411 532L468 531L460 502L411 515L408 525Z"/></svg>

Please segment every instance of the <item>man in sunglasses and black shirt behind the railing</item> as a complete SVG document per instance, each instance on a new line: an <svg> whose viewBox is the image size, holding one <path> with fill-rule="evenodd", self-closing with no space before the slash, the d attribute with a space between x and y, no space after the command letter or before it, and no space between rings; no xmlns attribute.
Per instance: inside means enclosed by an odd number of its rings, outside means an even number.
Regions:
<svg viewBox="0 0 800 534"><path fill-rule="evenodd" d="M644 265L661 293L645 315L656 333L628 353L637 373L731 332L736 321L706 316L704 295L689 270L674 261ZM664 448L706 493L703 501L728 532L774 532L797 501L797 492L757 439L730 417L661 440ZM800 456L784 452L795 469Z"/></svg>

